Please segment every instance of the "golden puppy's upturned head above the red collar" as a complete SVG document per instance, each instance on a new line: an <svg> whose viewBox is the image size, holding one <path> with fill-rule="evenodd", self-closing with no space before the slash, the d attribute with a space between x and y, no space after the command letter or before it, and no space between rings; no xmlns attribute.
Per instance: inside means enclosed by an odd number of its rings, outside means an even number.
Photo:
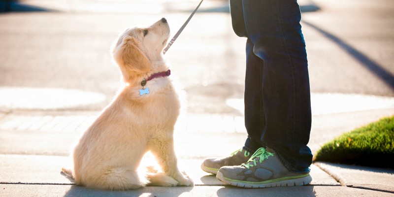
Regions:
<svg viewBox="0 0 394 197"><path fill-rule="evenodd" d="M162 51L169 37L169 26L162 18L144 28L131 28L121 33L112 46L112 55L123 78L143 74L150 70L151 62L162 61Z"/></svg>

